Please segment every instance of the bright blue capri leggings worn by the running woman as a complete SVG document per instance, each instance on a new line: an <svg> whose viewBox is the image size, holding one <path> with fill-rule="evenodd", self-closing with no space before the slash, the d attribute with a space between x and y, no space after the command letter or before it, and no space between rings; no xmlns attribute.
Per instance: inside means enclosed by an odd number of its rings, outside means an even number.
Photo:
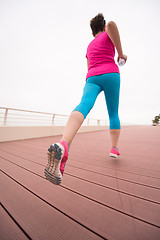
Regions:
<svg viewBox="0 0 160 240"><path fill-rule="evenodd" d="M118 116L119 90L119 73L106 73L90 77L87 79L84 86L81 102L73 111L81 112L84 118L86 118L93 108L99 93L104 91L109 114L110 129L120 129L121 126Z"/></svg>

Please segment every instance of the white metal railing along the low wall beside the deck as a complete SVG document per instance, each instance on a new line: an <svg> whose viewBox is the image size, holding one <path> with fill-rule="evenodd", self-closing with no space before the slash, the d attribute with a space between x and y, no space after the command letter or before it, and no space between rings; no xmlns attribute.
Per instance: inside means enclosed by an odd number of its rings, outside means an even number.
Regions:
<svg viewBox="0 0 160 240"><path fill-rule="evenodd" d="M0 126L65 126L69 116L0 107ZM103 119L86 118L83 126L105 126Z"/></svg>

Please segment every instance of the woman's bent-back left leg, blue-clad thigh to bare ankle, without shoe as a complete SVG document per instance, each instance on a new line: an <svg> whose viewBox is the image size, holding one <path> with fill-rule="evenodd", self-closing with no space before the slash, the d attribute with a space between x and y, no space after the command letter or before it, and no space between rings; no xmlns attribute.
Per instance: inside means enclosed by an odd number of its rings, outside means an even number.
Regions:
<svg viewBox="0 0 160 240"><path fill-rule="evenodd" d="M69 145L94 106L96 98L101 91L102 89L98 85L86 82L81 102L71 113L62 136L62 140L67 141Z"/></svg>

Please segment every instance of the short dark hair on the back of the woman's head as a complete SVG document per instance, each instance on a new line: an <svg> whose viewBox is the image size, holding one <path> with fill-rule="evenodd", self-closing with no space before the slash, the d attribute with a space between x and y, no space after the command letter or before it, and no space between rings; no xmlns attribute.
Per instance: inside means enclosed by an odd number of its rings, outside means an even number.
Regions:
<svg viewBox="0 0 160 240"><path fill-rule="evenodd" d="M99 13L97 16L91 19L90 21L90 27L92 29L93 36L103 31L104 25L106 24L106 21L104 20L104 16L102 13Z"/></svg>

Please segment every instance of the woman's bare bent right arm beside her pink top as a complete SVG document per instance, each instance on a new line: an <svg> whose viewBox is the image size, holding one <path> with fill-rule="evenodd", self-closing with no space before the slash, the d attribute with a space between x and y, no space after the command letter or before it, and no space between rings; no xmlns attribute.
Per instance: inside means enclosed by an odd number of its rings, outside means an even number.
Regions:
<svg viewBox="0 0 160 240"><path fill-rule="evenodd" d="M106 26L106 32L117 49L117 60L119 61L120 58L123 58L125 61L127 61L127 56L123 54L120 35L116 23L113 21L108 22Z"/></svg>

